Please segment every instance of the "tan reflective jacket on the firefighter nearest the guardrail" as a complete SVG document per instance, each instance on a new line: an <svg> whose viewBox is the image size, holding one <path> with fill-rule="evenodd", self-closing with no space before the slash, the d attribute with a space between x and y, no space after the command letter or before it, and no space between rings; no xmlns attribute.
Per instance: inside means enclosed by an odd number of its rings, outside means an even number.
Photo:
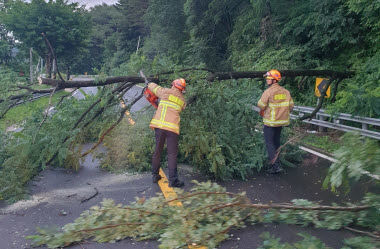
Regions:
<svg viewBox="0 0 380 249"><path fill-rule="evenodd" d="M289 125L290 112L294 107L294 102L289 91L278 83L271 84L264 91L257 106L264 110L264 125L272 127Z"/></svg>

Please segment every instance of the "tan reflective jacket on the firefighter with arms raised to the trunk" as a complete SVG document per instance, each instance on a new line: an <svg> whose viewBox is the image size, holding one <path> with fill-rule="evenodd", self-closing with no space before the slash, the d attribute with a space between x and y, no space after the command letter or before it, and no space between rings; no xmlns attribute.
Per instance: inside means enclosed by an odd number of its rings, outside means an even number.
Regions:
<svg viewBox="0 0 380 249"><path fill-rule="evenodd" d="M186 106L182 92L175 87L163 88L155 83L149 83L148 88L160 99L149 127L179 134L179 114Z"/></svg>

